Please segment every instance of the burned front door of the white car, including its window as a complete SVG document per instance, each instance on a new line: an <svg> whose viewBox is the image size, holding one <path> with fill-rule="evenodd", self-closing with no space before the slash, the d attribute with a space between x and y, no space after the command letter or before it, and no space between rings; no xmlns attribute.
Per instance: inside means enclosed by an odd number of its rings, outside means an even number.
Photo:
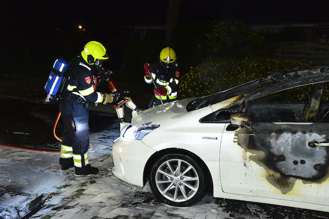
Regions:
<svg viewBox="0 0 329 219"><path fill-rule="evenodd" d="M329 206L329 105L320 101L328 81L324 71L283 73L267 84L261 79L259 89L232 104L240 107L223 132L223 192Z"/></svg>

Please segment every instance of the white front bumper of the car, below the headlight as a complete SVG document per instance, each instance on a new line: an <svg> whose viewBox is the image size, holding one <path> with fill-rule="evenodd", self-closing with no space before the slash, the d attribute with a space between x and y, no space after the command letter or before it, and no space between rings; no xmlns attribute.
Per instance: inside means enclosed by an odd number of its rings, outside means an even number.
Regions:
<svg viewBox="0 0 329 219"><path fill-rule="evenodd" d="M113 174L127 183L144 186L144 167L155 152L156 150L145 145L140 140L118 138L112 149Z"/></svg>

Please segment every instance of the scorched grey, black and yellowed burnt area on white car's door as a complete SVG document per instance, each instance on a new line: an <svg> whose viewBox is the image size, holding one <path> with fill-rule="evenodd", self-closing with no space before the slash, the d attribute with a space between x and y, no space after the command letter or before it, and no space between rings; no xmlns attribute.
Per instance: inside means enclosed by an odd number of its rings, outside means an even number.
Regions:
<svg viewBox="0 0 329 219"><path fill-rule="evenodd" d="M329 142L328 134L328 124L316 123L257 123L236 130L237 143L251 154L249 160L263 167L269 173L266 180L284 194L298 179L304 184L327 180L329 147L312 143Z"/></svg>

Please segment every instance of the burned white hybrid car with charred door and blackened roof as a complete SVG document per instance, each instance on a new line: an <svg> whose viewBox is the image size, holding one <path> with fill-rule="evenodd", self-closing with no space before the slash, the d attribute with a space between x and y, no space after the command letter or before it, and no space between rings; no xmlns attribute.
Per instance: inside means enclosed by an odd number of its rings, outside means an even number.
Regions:
<svg viewBox="0 0 329 219"><path fill-rule="evenodd" d="M214 197L329 211L329 67L293 69L136 114L113 173L172 206Z"/></svg>

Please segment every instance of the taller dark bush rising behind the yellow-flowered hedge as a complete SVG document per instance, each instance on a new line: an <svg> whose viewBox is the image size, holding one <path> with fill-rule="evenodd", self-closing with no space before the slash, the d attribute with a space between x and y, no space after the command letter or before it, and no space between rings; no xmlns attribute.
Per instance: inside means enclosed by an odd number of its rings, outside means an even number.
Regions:
<svg viewBox="0 0 329 219"><path fill-rule="evenodd" d="M182 73L209 57L239 59L268 53L263 34L252 32L244 23L231 21L181 25L174 31L173 44Z"/></svg>

